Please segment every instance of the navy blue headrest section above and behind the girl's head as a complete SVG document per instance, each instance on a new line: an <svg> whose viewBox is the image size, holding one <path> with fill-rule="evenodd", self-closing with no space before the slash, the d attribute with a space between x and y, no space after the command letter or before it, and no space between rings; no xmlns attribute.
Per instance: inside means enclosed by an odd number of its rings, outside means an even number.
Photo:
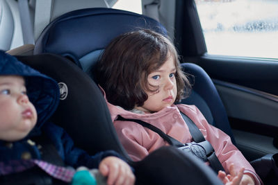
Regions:
<svg viewBox="0 0 278 185"><path fill-rule="evenodd" d="M138 28L167 35L158 21L134 12L112 8L75 10L44 28L35 44L34 54L63 55L88 73L113 38Z"/></svg>

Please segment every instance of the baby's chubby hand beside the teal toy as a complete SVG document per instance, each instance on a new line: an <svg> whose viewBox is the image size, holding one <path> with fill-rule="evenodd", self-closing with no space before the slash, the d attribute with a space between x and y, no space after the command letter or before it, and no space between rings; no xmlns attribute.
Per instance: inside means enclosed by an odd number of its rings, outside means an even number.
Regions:
<svg viewBox="0 0 278 185"><path fill-rule="evenodd" d="M106 157L99 164L99 171L107 177L108 185L134 184L135 176L126 162L117 157Z"/></svg>

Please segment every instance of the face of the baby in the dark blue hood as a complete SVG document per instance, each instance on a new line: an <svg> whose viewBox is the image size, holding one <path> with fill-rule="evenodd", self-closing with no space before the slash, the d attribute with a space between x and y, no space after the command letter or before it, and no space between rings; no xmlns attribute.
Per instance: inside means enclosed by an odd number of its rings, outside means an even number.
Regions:
<svg viewBox="0 0 278 185"><path fill-rule="evenodd" d="M0 140L23 139L36 122L37 112L26 95L24 78L0 76Z"/></svg>

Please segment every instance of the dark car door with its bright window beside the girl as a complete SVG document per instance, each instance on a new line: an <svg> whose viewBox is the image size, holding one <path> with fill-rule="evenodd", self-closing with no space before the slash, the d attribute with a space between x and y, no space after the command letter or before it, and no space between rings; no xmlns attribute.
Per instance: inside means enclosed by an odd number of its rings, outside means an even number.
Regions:
<svg viewBox="0 0 278 185"><path fill-rule="evenodd" d="M238 148L249 160L278 152L278 1L176 1L183 62L212 78Z"/></svg>

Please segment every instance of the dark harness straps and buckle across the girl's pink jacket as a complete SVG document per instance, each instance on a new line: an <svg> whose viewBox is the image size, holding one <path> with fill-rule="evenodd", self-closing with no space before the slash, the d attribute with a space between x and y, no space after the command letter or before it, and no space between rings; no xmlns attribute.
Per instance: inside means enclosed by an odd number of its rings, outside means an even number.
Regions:
<svg viewBox="0 0 278 185"><path fill-rule="evenodd" d="M195 123L188 116L186 116L186 114L183 114L181 112L181 116L183 117L183 120L188 125L189 132L193 137L194 142L183 144L177 141L177 139L172 138L172 136L165 134L158 127L155 127L154 125L151 125L145 121L141 121L138 119L123 118L120 115L118 116L117 120L133 121L135 123L142 125L143 127L147 127L149 128L149 130L152 130L157 134L159 134L159 136L161 136L171 146L175 146L183 150L184 152L188 152L191 155L195 155L195 157L198 157L203 161L208 161L211 168L215 171L215 173L218 173L219 170L224 171L222 164L220 163L218 157L215 155L215 150L213 149L213 146L211 146L211 143L209 143L208 141L206 141L206 139L204 139L204 135L199 130L197 125L195 125ZM202 153L204 153L205 156Z"/></svg>

